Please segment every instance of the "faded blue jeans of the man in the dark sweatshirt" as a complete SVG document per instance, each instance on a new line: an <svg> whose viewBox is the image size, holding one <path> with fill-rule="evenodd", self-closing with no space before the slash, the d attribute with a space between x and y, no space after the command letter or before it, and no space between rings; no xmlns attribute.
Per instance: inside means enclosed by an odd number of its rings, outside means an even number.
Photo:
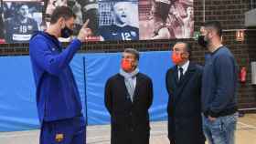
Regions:
<svg viewBox="0 0 256 144"><path fill-rule="evenodd" d="M203 130L209 144L234 144L235 130L238 114L219 117L210 121L205 116L203 118Z"/></svg>

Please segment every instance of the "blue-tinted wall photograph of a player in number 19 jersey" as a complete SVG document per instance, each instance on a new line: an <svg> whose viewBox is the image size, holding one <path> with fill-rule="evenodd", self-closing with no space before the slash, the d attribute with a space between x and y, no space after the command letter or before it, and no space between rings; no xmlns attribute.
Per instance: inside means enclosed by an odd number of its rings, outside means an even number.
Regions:
<svg viewBox="0 0 256 144"><path fill-rule="evenodd" d="M43 5L39 1L3 1L5 43L27 43L40 30Z"/></svg>

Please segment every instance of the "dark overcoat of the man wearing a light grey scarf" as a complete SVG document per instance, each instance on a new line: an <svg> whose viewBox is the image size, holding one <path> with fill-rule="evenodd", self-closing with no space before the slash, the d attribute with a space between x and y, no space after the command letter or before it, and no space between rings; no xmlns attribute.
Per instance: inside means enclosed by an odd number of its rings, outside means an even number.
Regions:
<svg viewBox="0 0 256 144"><path fill-rule="evenodd" d="M136 76L133 102L124 77L116 74L105 86L105 106L111 114L112 144L148 144L149 114L153 101L152 80L142 73Z"/></svg>

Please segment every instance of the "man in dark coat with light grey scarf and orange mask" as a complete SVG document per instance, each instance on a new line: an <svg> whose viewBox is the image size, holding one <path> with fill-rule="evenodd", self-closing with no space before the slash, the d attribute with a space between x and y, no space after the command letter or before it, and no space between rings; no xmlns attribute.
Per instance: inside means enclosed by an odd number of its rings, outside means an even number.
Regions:
<svg viewBox="0 0 256 144"><path fill-rule="evenodd" d="M149 114L153 101L150 77L139 72L139 52L123 52L120 72L107 80L105 106L111 115L112 144L149 144Z"/></svg>

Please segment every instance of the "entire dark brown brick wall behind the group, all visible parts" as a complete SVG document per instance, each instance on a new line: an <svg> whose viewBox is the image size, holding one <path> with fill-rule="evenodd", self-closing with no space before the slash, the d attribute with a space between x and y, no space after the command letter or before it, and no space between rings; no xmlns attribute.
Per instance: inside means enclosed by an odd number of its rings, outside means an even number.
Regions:
<svg viewBox="0 0 256 144"><path fill-rule="evenodd" d="M251 86L251 61L256 61L256 31L246 30L245 41L235 40L235 29L244 29L244 12L250 9L250 0L205 0L205 20L219 20L224 29L224 44L229 46L239 66L248 69L247 82L240 84L239 107L256 107L256 86ZM204 20L203 0L194 0L195 30ZM192 60L203 65L206 49L201 48L193 39L184 39L193 45ZM133 47L140 51L169 50L176 40L100 42L84 44L80 52L117 52L123 48ZM27 44L1 45L0 55L27 55ZM242 60L241 60L242 59Z"/></svg>

